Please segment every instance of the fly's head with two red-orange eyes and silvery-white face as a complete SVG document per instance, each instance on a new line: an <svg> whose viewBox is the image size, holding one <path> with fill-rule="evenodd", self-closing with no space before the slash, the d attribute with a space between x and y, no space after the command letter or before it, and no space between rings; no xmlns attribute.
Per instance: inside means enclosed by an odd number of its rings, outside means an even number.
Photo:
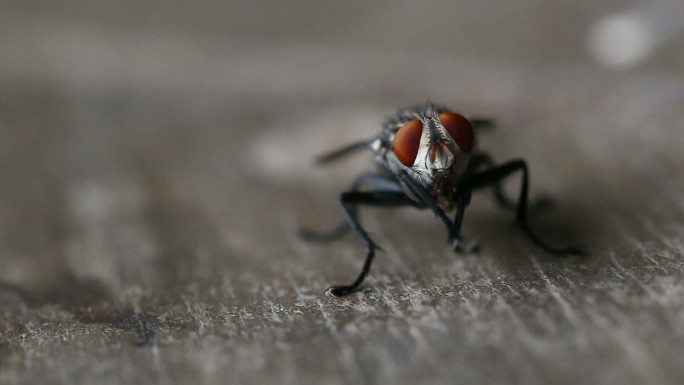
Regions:
<svg viewBox="0 0 684 385"><path fill-rule="evenodd" d="M437 198L455 193L475 147L470 121L455 112L437 114L428 108L420 118L404 123L392 150L405 167Z"/></svg>

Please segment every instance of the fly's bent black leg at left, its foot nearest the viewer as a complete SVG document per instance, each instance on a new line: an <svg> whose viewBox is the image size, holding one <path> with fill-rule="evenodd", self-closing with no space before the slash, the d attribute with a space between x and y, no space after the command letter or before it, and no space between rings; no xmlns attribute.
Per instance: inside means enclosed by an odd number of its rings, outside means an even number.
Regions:
<svg viewBox="0 0 684 385"><path fill-rule="evenodd" d="M328 288L326 293L334 297L342 297L358 290L370 271L371 264L375 258L375 251L382 250L359 223L356 216L356 206L407 206L415 204L406 196L406 194L399 191L350 191L340 195L340 203L342 204L347 224L361 238L368 249L368 253L366 254L366 260L361 268L361 273L351 285L332 286Z"/></svg>

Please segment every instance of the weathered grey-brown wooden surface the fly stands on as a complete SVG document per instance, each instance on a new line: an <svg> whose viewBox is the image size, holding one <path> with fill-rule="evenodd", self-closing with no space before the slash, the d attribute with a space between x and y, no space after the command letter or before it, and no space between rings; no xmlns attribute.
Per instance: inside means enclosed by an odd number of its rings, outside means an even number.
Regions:
<svg viewBox="0 0 684 385"><path fill-rule="evenodd" d="M560 34L601 9L565 2L548 25L534 2L476 13L463 31L482 47L419 25L399 36L441 43L418 54L386 29L425 11L410 3L387 19L243 5L262 27L210 1L62 3L0 16L1 384L681 383L681 54L587 65ZM511 31L526 43L496 52ZM385 253L363 292L325 296L364 250L297 230L337 224L371 163L313 156L428 97L496 118L480 146L526 158L532 196L555 202L532 225L591 255L540 252L486 194L466 213L473 255L429 212L369 209Z"/></svg>

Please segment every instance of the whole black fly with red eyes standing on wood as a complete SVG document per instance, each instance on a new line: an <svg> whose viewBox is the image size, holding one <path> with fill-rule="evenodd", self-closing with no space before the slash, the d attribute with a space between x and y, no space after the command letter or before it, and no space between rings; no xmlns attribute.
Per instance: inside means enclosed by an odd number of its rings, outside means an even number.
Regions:
<svg viewBox="0 0 684 385"><path fill-rule="evenodd" d="M487 153L479 151L476 132L492 126L486 119L467 119L447 108L429 102L400 110L387 119L382 132L369 140L352 143L318 158L326 164L362 149L375 154L376 172L359 175L349 191L340 195L346 223L327 232L302 231L305 239L331 240L352 229L367 248L361 273L350 285L332 286L327 293L341 297L355 292L368 275L377 250L382 250L360 224L358 206L413 206L429 209L444 222L448 241L456 252L475 250L475 242L461 236L465 209L474 191L491 187L497 202L515 210L515 220L529 239L555 255L581 255L577 247L552 247L544 243L527 223L529 171L522 159L496 165ZM522 174L517 202L502 190L502 181ZM449 214L455 212L453 220Z"/></svg>

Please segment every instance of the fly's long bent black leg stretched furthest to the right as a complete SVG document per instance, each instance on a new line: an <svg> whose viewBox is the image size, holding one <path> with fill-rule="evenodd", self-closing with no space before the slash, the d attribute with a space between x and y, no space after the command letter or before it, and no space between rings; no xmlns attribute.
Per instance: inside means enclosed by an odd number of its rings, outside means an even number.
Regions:
<svg viewBox="0 0 684 385"><path fill-rule="evenodd" d="M516 207L516 222L520 225L527 236L543 250L556 255L583 255L585 251L577 247L551 247L542 242L541 239L532 231L527 223L527 199L529 190L529 172L527 164L524 160L512 160L500 166L490 168L488 170L470 174L465 177L460 183L461 188L472 191L478 188L487 187L492 184L500 183L503 179L513 174L514 172L522 172L522 183L520 186L520 195L518 196L518 204Z"/></svg>

